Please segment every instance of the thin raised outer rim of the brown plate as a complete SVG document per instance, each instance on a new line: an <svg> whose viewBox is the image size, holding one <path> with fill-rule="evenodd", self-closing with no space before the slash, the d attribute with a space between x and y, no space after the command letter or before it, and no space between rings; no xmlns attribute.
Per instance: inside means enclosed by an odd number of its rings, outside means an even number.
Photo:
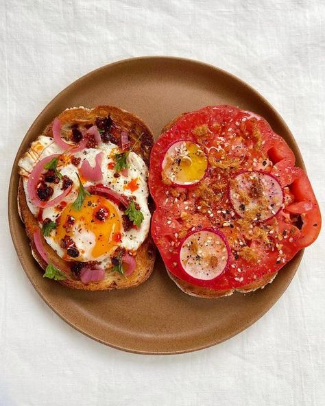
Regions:
<svg viewBox="0 0 325 406"><path fill-rule="evenodd" d="M159 351L158 350L158 351L155 351L155 350L137 350L137 349L134 349L134 348L129 348L128 346L118 346L118 345L109 343L109 342L105 341L104 339L101 339L100 337L95 337L94 335L91 335L91 333L88 333L86 330L82 329L80 326L77 326L77 324L74 324L68 318L66 318L64 315L62 315L62 313L60 313L60 311L58 309L56 309L56 307L54 307L51 304L51 302L49 302L49 300L47 300L47 296L45 294L43 294L43 291L41 289L38 288L36 280L34 280L34 278L32 278L32 276L29 275L29 272L27 272L27 264L25 264L23 261L21 261L21 251L23 251L23 250L21 250L19 248L19 244L16 241L16 237L14 237L14 217L16 217L17 215L19 216L19 213L18 213L18 211L13 210L14 204L12 204L12 198L16 193L16 189L14 188L13 178L16 175L16 165L17 165L18 160L19 160L19 158L21 156L22 144L25 141L25 139L27 138L28 134L34 130L34 126L36 126L36 122L38 121L38 119L49 108L50 104L53 104L58 98L60 98L62 93L66 93L67 91L71 90L71 88L76 86L79 82L82 82L82 80L84 80L89 75L93 75L95 73L98 73L99 71L105 71L106 69L110 69L111 67L117 67L117 66L119 66L119 65L121 66L123 64L130 64L130 63L136 62L136 61L145 62L145 61L149 61L149 60L164 60L164 61L179 60L179 61L182 61L182 62L188 62L190 64L200 65L202 67L212 69L214 71L218 71L219 73L222 73L222 74L230 77L232 80L235 80L235 81L239 82L241 84L241 86L244 86L250 92L257 95L263 101L263 103L267 106L267 108L269 108L269 110L272 110L272 112L274 112L274 114L276 115L276 118L278 119L278 121L280 121L281 125L285 128L285 131L290 136L291 142L295 146L295 150L296 150L295 151L295 156L296 156L296 158L298 158L300 160L300 165L299 166L302 167L302 169L304 169L304 171L306 171L306 167L304 165L304 160L302 159L302 154L301 154L300 149L298 147L298 143L296 142L295 137L293 136L291 130L287 126L287 123L282 118L282 116L280 115L278 110L276 110L276 108L274 108L272 106L272 104L270 104L269 101L267 101L267 99L265 99L265 97L263 95L261 95L261 93L256 91L255 88L253 88L252 86L250 86L250 84L243 81L240 77L238 77L237 75L234 75L233 73L230 73L230 72L226 71L225 69L222 69L220 67L216 67L213 64L210 64L210 63L207 63L207 62L202 62L202 61L195 60L195 59L192 59L192 58L182 58L182 57L178 57L178 56L136 56L136 57L132 57L132 58L125 58L125 59L117 60L115 62L110 62L108 64L102 65L101 67L98 67L97 69L93 69L92 71L89 71L88 73L85 73L81 77L78 77L76 80L71 82L71 84L64 87L55 97L53 97L47 103L47 105L43 108L43 110L40 111L40 113L37 115L37 117L32 122L31 126L29 126L27 132L25 133L25 136L23 136L23 139L21 140L19 148L18 148L18 150L16 152L14 162L12 163L12 170L11 170L11 173L10 173L10 182L9 182L9 188L8 188L8 221L9 221L9 228L10 228L10 235L11 235L11 238L12 238L12 243L14 244L16 254L17 254L18 258L19 258L19 262L21 263L21 266L23 267L23 270L24 270L27 278L29 279L30 283L32 283L32 286L34 287L34 289L36 290L36 292L40 296L40 298L42 298L44 300L44 302L47 304L47 306L54 313L56 313L56 315L58 315L60 317L60 319L62 319L67 324L69 324L69 326L71 326L76 331L82 333L83 335L86 335L86 337L94 339L95 341L97 341L97 342L99 342L101 344L104 344L106 346L109 346L110 348L115 348L117 350L123 350L123 351L125 351L127 353L135 353L135 354L141 354L141 355L176 355L176 354L191 353L193 351L203 350L205 348L210 348L210 347L215 346L217 344L221 344L222 342L225 342L228 339L231 339L232 337L234 337L235 335L245 331L250 326L255 324L258 320L263 318L263 316L270 309L272 309L272 307L274 307L276 302L278 302L280 297L285 293L285 291L289 287L291 281L293 280L293 277L296 275L296 272L297 272L298 267L300 265L300 262L302 260L302 256L304 254L304 249L300 250L300 252L298 252L296 254L296 256L293 257L293 259L296 260L296 265L295 265L296 267L294 269L294 272L293 272L292 276L283 285L281 293L276 294L276 296L272 297L272 300L269 302L269 306L267 307L267 309L264 309L261 313L258 313L258 315L256 315L255 318L252 318L249 322L247 322L246 324L241 326L239 329L234 331L232 334L227 335L226 337L224 337L223 339L221 339L221 340L219 340L217 342L212 342L212 343L209 343L207 345L200 345L200 344L199 345L193 345L193 346L191 346L191 348L186 348L184 350L170 350L170 351L169 350L165 350L165 351ZM291 261L293 261L293 259L291 259ZM289 261L289 262L291 262L291 261Z"/></svg>

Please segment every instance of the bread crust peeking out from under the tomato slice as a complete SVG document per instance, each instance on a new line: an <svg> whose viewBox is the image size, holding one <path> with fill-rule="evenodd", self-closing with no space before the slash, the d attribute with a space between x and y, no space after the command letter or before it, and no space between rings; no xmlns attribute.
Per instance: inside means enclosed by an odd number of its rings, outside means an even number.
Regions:
<svg viewBox="0 0 325 406"><path fill-rule="evenodd" d="M178 117L171 120L163 128L162 133L170 130L171 127L173 127L173 125L185 114L186 114L186 112L183 112L182 114L178 115ZM179 287L180 290L182 290L185 294L188 294L190 296L195 296L197 298L204 298L204 299L216 299L216 298L222 298L224 296L231 296L235 291L243 293L243 294L248 294L252 291L256 291L257 289L263 289L266 285L268 285L269 283L272 283L274 278L276 278L276 275L278 274L278 272L275 272L274 274L265 275L253 283L242 286L240 289L215 290L215 289L207 289L204 287L192 285L191 283L186 282L185 280L182 280L182 279L178 278L177 276L171 274L171 272L169 272L167 267L166 267L166 270L167 270L167 274L168 274L169 278L171 278L171 280L173 280L173 282L176 283L177 287Z"/></svg>

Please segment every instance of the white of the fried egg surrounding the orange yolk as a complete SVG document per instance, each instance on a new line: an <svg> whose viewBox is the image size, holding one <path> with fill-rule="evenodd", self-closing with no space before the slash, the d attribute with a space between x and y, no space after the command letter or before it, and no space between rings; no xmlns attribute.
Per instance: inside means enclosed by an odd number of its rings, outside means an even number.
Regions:
<svg viewBox="0 0 325 406"><path fill-rule="evenodd" d="M136 202L140 206L140 210L143 213L143 222L140 228L132 228L131 230L125 231L123 227L121 227L121 244L122 248L125 248L128 251L136 251L143 241L145 241L150 227L150 212L147 204L147 199L149 195L148 187L147 187L147 177L148 177L148 169L145 165L141 156L135 154L134 152L130 152L128 154L128 176L119 176L119 178L115 178L114 169L108 168L108 163L115 162L112 157L115 154L119 153L119 147L113 143L101 143L97 148L86 148L81 152L77 152L73 154L76 158L80 158L80 164L77 167L81 167L84 160L88 160L91 166L95 166L95 158L99 152L104 152L104 158L101 163L101 172L103 174L103 178L100 183L110 187L111 189L117 191L120 194L125 196L135 196ZM39 136L34 143L32 143L29 150L22 156L19 160L19 167L21 168L21 175L23 176L23 186L25 190L25 195L27 198L27 205L29 210L34 214L37 215L38 207L36 207L33 202L29 199L28 192L27 192L27 182L28 182L28 175L32 171L33 167L38 163L40 159L45 158L46 156L50 156L53 154L62 154L63 150L58 147L58 145L54 142L54 140L48 136ZM62 176L67 175L71 180L73 180L73 188L71 193L64 198L64 201L67 204L73 202L77 197L78 189L79 189L79 182L77 179L77 167L72 163L67 163L64 166L58 166ZM138 178L137 184L139 186L136 191L130 191L129 189L124 189L124 186L128 184L132 179ZM84 182L84 187L91 186L91 184L96 184L98 182ZM62 186L61 182L59 184L51 184L53 187L53 195L51 199L56 198L56 196L62 193L60 189ZM60 213L55 210L54 207L45 208L43 211L43 219L49 218L53 222L55 222L56 217L58 217ZM40 226L42 225L39 223ZM45 237L47 243L53 250L57 252L60 257L63 257L64 250L60 247L60 244L55 241L53 236L55 235L55 230L51 232L49 237ZM82 230L82 235L78 238L74 239L75 246L80 252L84 252L80 254L78 257L78 261L104 261L106 266L110 265L110 258L109 256L103 255L97 258L94 258L91 254L93 249L93 243L95 241L95 235L93 232L89 230ZM89 244L89 241L92 241L92 244ZM71 259L72 260L72 259Z"/></svg>

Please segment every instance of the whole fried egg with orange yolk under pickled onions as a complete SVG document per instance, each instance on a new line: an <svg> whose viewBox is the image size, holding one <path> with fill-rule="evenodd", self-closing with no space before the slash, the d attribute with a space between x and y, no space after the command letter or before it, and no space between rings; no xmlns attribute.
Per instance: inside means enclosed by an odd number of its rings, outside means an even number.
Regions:
<svg viewBox="0 0 325 406"><path fill-rule="evenodd" d="M77 198L79 190L78 169L84 160L88 160L88 163L95 167L95 158L99 152L104 152L101 162L102 180L91 182L82 178L82 184L86 188L101 183L127 198L132 196L143 213L143 222L139 228L124 230L123 212L117 204L99 195L87 195L80 210L77 211L73 208L73 202ZM39 160L53 154L62 154L63 151L52 138L41 135L19 160L27 205L38 219L40 227L43 225L44 219L50 219L52 222L56 222L58 219L58 226L51 230L45 239L61 258L68 261L101 261L109 265L110 256L117 247L134 252L145 241L150 226L150 212L147 204L148 169L141 156L130 152L127 158L129 166L127 174L119 174L117 177L114 169L115 155L120 152L119 147L113 143L101 143L97 148L86 148L74 153L73 156L65 152L58 163L58 171L62 176L68 176L73 181L71 192L60 205L44 209L35 206L28 196L28 176ZM77 165L71 163L71 158L75 158L73 161ZM52 200L62 193L62 182L51 183L51 187L53 188ZM105 217L104 221L101 219L102 216ZM77 248L76 257L67 255L69 238L73 240L74 247ZM73 254L73 250L71 254Z"/></svg>

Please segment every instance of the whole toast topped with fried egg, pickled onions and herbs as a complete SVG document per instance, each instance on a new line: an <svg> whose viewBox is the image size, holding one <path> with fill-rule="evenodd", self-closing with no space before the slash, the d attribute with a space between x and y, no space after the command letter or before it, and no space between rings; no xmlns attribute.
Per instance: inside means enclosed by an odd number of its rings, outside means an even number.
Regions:
<svg viewBox="0 0 325 406"><path fill-rule="evenodd" d="M147 187L152 132L114 106L64 110L19 160L19 214L44 277L127 289L154 267Z"/></svg>

